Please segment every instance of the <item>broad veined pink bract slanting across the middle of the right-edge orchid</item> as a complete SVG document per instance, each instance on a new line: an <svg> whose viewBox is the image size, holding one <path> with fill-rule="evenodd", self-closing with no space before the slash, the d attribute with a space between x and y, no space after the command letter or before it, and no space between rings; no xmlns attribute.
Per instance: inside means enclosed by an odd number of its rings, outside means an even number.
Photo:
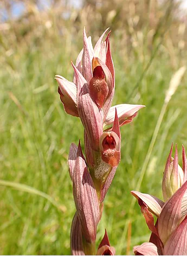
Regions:
<svg viewBox="0 0 187 256"><path fill-rule="evenodd" d="M158 219L158 234L163 244L176 229L181 219L182 199L187 189L187 181L164 204Z"/></svg>

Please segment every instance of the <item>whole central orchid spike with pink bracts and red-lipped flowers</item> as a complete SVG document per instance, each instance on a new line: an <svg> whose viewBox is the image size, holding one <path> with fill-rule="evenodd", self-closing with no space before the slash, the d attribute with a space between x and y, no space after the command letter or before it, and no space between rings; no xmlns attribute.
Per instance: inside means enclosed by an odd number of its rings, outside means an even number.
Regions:
<svg viewBox="0 0 187 256"><path fill-rule="evenodd" d="M81 144L69 151L69 174L73 182L76 213L70 241L74 255L95 254L96 227L102 215L103 201L120 162L120 126L130 123L143 105L112 106L115 72L108 29L95 47L83 31L83 49L74 69L73 82L60 75L60 99L65 111L79 117L84 127L85 156ZM98 248L101 255L113 255L107 233Z"/></svg>

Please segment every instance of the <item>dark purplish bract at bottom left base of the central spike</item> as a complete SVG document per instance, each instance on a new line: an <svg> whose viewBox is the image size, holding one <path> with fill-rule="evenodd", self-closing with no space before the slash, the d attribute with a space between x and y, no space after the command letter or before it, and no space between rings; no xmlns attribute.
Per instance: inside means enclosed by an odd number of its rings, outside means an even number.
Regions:
<svg viewBox="0 0 187 256"><path fill-rule="evenodd" d="M78 214L75 213L70 232L71 255L85 255L82 245L82 231Z"/></svg>

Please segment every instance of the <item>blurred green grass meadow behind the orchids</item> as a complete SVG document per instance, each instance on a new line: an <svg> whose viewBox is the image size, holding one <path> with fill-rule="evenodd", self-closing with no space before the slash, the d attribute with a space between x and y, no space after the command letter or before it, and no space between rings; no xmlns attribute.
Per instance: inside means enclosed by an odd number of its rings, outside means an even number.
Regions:
<svg viewBox="0 0 187 256"><path fill-rule="evenodd" d="M70 254L69 233L75 206L67 159L70 143L77 144L79 138L83 142L83 129L78 118L63 110L54 75L72 79L70 61L75 62L81 50L82 28L75 33L69 26L68 33L61 36L52 27L50 33L53 31L53 37L43 36L39 43L33 40L19 44L12 37L1 38L8 49L1 48L0 59L0 179L14 182L0 182L1 254ZM98 243L106 228L117 254L132 253L134 245L149 240L150 231L137 203L130 208L130 191L136 190L170 79L186 65L186 49L181 53L175 47L171 54L171 47L160 43L144 72L151 54L146 33L140 33L145 42L137 39L138 46L131 53L119 31L111 34L116 75L113 105L146 105L132 124L121 127L121 162L98 227ZM94 43L96 39L95 36ZM178 144L180 155L182 143L187 149L186 82L185 74L166 109L141 183L143 193L162 198L162 176L171 142ZM35 195L36 190L17 183L46 193L57 206L50 199Z"/></svg>

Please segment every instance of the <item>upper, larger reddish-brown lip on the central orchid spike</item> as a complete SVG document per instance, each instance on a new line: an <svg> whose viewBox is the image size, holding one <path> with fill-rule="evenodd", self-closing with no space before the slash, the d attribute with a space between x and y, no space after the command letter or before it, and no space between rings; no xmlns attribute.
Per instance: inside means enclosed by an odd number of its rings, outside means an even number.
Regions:
<svg viewBox="0 0 187 256"><path fill-rule="evenodd" d="M102 107L108 95L108 85L105 81L105 74L101 66L94 68L93 78L89 82L89 91L92 99Z"/></svg>

